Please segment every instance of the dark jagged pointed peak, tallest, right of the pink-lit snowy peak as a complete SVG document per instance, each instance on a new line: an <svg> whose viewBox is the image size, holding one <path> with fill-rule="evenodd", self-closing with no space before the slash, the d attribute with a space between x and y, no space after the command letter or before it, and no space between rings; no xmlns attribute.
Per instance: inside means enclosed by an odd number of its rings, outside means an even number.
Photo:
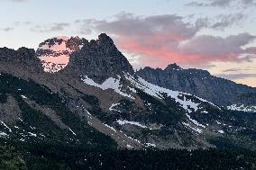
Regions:
<svg viewBox="0 0 256 170"><path fill-rule="evenodd" d="M123 75L123 72L133 74L133 67L116 49L114 41L102 33L98 40L86 42L80 50L70 55L69 65L64 72L103 82L110 76Z"/></svg>

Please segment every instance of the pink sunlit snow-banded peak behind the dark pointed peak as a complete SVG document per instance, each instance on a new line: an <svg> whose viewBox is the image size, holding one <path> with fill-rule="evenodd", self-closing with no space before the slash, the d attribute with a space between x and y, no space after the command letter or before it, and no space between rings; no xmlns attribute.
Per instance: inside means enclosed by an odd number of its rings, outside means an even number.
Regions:
<svg viewBox="0 0 256 170"><path fill-rule="evenodd" d="M69 63L69 56L81 49L87 40L78 37L59 36L45 40L37 49L45 72L58 72Z"/></svg>

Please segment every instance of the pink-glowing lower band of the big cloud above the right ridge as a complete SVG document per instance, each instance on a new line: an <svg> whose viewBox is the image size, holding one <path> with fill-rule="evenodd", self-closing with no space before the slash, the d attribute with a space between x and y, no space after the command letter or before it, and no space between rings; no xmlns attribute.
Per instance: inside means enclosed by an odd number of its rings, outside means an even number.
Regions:
<svg viewBox="0 0 256 170"><path fill-rule="evenodd" d="M173 37L171 37L173 39ZM239 34L227 38L199 36L178 43L179 40L166 42L158 36L141 40L126 38L117 39L117 45L126 52L142 56L142 65L165 67L169 63L179 65L202 66L212 61L242 62L250 58L241 58L242 54L256 54L242 49L242 46L254 39L248 34Z"/></svg>

